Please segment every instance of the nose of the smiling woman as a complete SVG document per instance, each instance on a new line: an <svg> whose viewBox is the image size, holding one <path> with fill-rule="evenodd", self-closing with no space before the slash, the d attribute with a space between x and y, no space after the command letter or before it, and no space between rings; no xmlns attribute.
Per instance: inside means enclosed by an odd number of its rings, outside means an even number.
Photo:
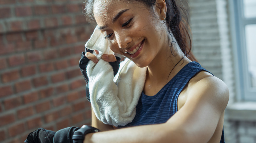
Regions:
<svg viewBox="0 0 256 143"><path fill-rule="evenodd" d="M126 48L131 43L132 38L126 33L116 33L116 40L119 48Z"/></svg>

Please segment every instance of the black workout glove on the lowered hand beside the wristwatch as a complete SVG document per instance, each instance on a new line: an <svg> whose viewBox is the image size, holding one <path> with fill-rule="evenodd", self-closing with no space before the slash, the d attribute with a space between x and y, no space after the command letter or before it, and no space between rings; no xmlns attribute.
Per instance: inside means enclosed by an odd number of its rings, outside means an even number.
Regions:
<svg viewBox="0 0 256 143"><path fill-rule="evenodd" d="M25 143L72 143L72 135L79 127L67 127L57 132L39 128L31 132Z"/></svg>

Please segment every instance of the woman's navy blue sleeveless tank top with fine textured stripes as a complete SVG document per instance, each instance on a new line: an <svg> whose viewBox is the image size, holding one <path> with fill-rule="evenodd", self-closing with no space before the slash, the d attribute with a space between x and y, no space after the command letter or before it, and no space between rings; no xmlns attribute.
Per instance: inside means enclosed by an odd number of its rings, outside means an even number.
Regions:
<svg viewBox="0 0 256 143"><path fill-rule="evenodd" d="M136 106L135 118L124 127L165 123L178 111L178 97L182 89L196 73L202 70L206 71L198 62L190 62L156 95L147 96L142 92ZM224 143L224 131L220 143Z"/></svg>

